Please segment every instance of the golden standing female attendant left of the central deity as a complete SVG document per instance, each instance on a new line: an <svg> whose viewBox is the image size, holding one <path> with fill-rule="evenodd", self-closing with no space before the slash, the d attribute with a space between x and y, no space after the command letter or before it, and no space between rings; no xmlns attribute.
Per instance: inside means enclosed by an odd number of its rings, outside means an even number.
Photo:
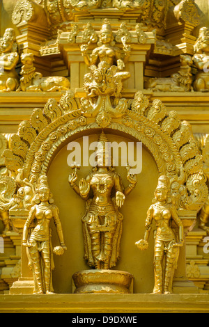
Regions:
<svg viewBox="0 0 209 327"><path fill-rule="evenodd" d="M35 282L35 291L37 294L51 294L52 287L52 269L54 268L50 221L54 218L56 231L59 237L60 245L54 248L53 252L62 255L66 250L63 230L59 218L59 210L52 204L52 194L49 191L47 177L41 176L38 181L38 191L36 193L36 205L31 207L29 217L24 225L22 234L22 245L29 248L29 258L33 266L33 276ZM36 220L35 228L33 222ZM29 234L31 228L31 234ZM33 229L32 229L33 228Z"/></svg>

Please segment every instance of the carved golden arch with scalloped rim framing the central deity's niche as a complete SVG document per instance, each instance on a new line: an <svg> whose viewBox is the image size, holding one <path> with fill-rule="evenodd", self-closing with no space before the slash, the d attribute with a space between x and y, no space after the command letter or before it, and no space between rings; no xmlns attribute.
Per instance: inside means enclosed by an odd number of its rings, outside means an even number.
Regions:
<svg viewBox="0 0 209 327"><path fill-rule="evenodd" d="M149 103L136 93L120 117L102 125L88 116L81 100L69 90L59 104L49 99L44 109L34 109L29 121L20 124L10 150L3 152L8 170L21 169L27 180L47 173L53 154L70 136L95 129L120 131L141 141L153 154L159 175L171 180L176 207L199 211L208 196L202 157L187 122L176 111L167 113L160 100Z"/></svg>

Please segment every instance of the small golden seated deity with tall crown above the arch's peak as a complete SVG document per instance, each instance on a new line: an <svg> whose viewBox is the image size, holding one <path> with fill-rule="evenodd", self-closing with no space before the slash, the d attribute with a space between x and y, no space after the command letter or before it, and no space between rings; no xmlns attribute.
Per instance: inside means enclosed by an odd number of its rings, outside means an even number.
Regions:
<svg viewBox="0 0 209 327"><path fill-rule="evenodd" d="M123 40L122 40L123 42ZM117 75L125 80L130 77L130 72L123 72L125 62L130 56L130 47L123 42L123 51L115 46L114 34L111 29L111 24L107 19L104 19L102 29L100 30L100 41L98 47L93 49L92 54L87 54L88 44L81 46L82 55L86 65L98 65L101 61L105 61L109 67L116 65L118 67Z"/></svg>

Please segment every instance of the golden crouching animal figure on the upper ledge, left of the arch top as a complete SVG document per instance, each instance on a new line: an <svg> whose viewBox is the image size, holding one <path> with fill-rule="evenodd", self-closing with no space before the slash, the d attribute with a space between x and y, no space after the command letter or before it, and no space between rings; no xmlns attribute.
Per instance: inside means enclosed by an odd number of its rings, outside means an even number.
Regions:
<svg viewBox="0 0 209 327"><path fill-rule="evenodd" d="M59 92L69 90L70 81L66 77L43 77L40 72L36 72L36 67L33 66L33 54L22 54L20 58L23 64L20 71L22 77L17 91Z"/></svg>

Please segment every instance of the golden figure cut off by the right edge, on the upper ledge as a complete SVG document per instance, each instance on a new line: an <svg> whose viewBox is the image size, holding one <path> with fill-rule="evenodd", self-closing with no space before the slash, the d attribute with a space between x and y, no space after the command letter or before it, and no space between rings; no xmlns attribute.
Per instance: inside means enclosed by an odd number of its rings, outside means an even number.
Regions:
<svg viewBox="0 0 209 327"><path fill-rule="evenodd" d="M202 27L199 31L194 45L195 54L193 56L194 65L198 69L194 79L194 90L201 92L209 91L209 29Z"/></svg>

